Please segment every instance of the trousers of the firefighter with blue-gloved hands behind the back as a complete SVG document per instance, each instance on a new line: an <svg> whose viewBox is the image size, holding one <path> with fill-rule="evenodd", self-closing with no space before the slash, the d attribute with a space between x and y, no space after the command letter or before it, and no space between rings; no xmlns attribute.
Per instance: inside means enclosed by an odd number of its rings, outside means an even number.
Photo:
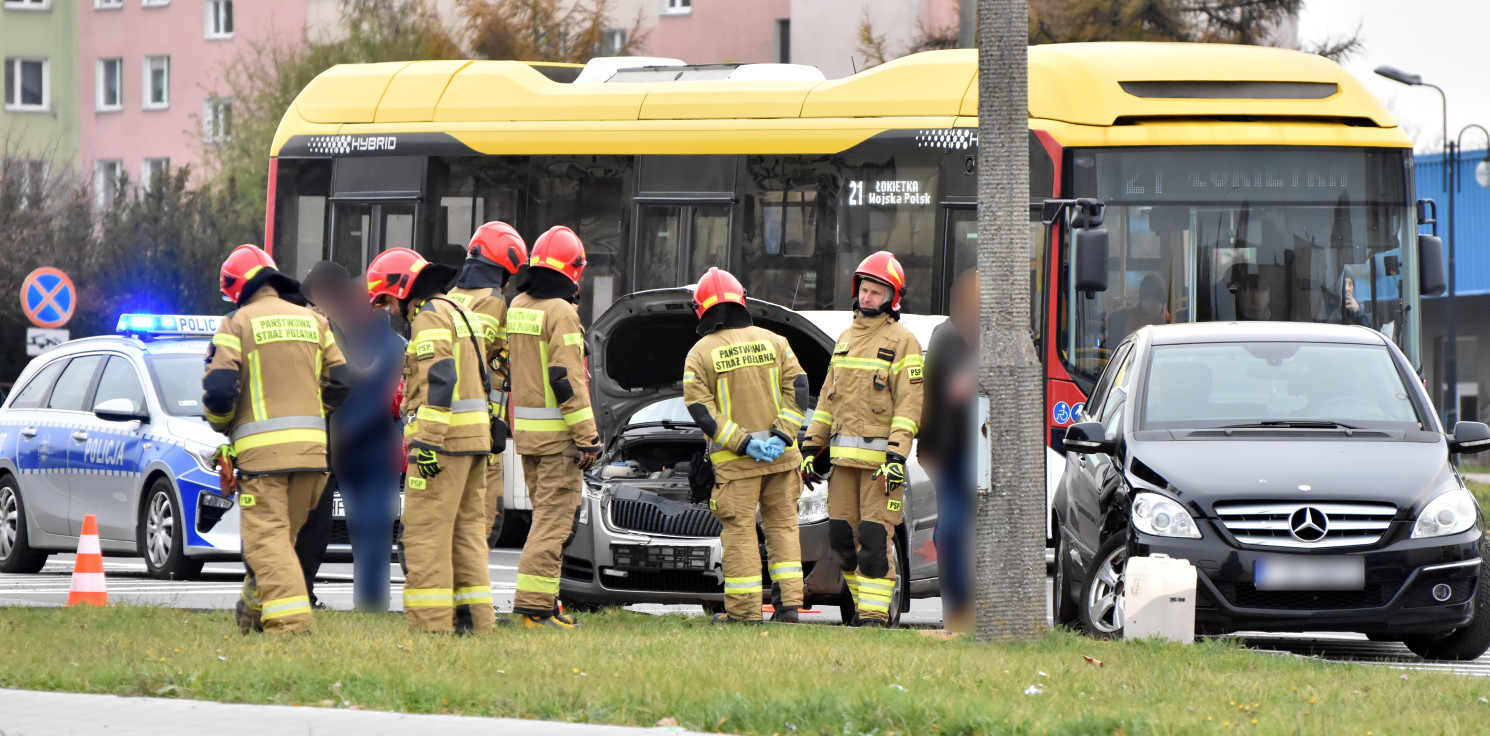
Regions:
<svg viewBox="0 0 1490 736"><path fill-rule="evenodd" d="M760 621L763 580L755 508L766 532L770 581L781 586L781 605L802 605L802 536L797 530L797 499L802 478L796 469L736 478L714 484L709 508L724 530L724 611L730 618Z"/></svg>

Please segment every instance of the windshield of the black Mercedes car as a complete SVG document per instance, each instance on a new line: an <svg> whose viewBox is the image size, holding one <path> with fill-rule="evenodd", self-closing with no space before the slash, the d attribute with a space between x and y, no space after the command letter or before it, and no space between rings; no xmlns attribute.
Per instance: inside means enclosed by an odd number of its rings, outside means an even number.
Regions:
<svg viewBox="0 0 1490 736"><path fill-rule="evenodd" d="M1384 346L1220 343L1153 349L1143 429L1420 429Z"/></svg>

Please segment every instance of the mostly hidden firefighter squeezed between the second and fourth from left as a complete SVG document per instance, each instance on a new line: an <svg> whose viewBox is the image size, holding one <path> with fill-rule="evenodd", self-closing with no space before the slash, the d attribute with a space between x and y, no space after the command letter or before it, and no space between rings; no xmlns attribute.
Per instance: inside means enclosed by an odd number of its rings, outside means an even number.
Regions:
<svg viewBox="0 0 1490 736"><path fill-rule="evenodd" d="M486 466L486 521L487 541L498 517L502 514L502 450L507 448L507 299L502 288L507 280L527 261L527 246L523 237L505 222L487 222L471 235L466 249L465 268L460 280L450 289L450 298L475 313L486 334L486 362L492 375L492 426L496 429L492 454Z"/></svg>

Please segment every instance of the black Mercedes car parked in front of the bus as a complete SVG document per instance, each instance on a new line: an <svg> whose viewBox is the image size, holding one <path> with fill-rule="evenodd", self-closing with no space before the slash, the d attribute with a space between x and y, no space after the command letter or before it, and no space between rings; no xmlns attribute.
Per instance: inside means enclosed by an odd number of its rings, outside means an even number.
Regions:
<svg viewBox="0 0 1490 736"><path fill-rule="evenodd" d="M1129 557L1195 565L1195 624L1363 632L1427 659L1490 647L1484 517L1407 358L1362 326L1144 328L1065 435L1055 615L1122 630Z"/></svg>

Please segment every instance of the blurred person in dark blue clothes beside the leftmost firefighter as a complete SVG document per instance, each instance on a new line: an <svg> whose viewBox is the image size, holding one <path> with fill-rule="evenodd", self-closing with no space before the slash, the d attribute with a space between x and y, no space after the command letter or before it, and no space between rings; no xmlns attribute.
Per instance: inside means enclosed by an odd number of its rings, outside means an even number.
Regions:
<svg viewBox="0 0 1490 736"><path fill-rule="evenodd" d="M398 517L399 459L404 456L398 414L390 408L404 369L405 341L386 313L368 305L364 289L346 268L332 261L311 267L301 286L305 298L331 322L347 358L352 393L331 417L331 481L346 505L352 539L352 599L358 611L386 612L389 606L389 556L393 520ZM329 498L331 493L326 493ZM307 584L325 557L331 536L331 507L317 508L323 532L301 533L297 553ZM307 523L307 529L311 524ZM301 544L304 542L304 544Z"/></svg>

